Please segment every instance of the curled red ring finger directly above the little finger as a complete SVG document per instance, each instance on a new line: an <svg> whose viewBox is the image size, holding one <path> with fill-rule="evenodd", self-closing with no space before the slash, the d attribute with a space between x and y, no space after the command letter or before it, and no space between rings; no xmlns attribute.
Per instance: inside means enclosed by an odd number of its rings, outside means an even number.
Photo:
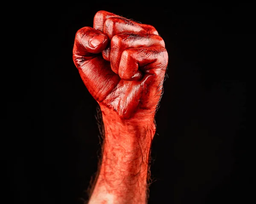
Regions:
<svg viewBox="0 0 256 204"><path fill-rule="evenodd" d="M159 35L155 34L118 34L111 40L111 69L116 74L119 73L119 62L122 52L129 48L160 46L165 47L165 43ZM139 76L137 76L139 77Z"/></svg>

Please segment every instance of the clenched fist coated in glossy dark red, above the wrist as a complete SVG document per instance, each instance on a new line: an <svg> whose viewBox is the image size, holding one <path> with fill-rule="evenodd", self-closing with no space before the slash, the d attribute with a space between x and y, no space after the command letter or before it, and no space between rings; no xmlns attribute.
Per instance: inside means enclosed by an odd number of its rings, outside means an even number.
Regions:
<svg viewBox="0 0 256 204"><path fill-rule="evenodd" d="M153 26L98 11L93 28L76 33L73 61L102 109L125 120L154 118L168 54Z"/></svg>

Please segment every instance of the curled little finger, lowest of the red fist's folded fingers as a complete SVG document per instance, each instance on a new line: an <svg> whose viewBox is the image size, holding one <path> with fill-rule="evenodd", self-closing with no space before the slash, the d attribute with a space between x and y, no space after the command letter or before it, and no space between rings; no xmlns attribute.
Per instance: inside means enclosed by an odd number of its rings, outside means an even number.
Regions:
<svg viewBox="0 0 256 204"><path fill-rule="evenodd" d="M142 80L143 75L153 75L161 81L167 64L168 54L162 46L125 49L120 60L119 77L123 80Z"/></svg>

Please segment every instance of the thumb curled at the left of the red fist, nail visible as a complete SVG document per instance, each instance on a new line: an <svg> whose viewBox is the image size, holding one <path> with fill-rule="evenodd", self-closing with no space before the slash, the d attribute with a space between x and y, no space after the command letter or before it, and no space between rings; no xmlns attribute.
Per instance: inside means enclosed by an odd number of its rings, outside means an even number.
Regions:
<svg viewBox="0 0 256 204"><path fill-rule="evenodd" d="M73 61L88 91L98 102L103 101L120 80L110 64L96 55L107 44L108 37L101 31L84 27L76 33L73 47Z"/></svg>

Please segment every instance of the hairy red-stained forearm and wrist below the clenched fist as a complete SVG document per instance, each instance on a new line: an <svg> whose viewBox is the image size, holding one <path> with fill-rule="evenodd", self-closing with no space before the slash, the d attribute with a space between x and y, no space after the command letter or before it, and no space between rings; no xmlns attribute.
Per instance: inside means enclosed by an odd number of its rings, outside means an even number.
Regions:
<svg viewBox="0 0 256 204"><path fill-rule="evenodd" d="M102 107L104 142L93 203L146 203L148 158L155 133L153 117L122 120Z"/></svg>

